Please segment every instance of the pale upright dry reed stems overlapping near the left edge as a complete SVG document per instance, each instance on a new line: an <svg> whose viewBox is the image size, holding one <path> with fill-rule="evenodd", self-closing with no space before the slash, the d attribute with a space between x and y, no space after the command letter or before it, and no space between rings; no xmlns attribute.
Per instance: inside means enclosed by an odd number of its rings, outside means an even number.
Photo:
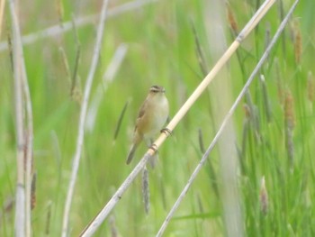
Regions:
<svg viewBox="0 0 315 237"><path fill-rule="evenodd" d="M15 208L15 235L31 236L31 172L32 172L32 109L31 94L25 69L23 45L14 1L9 2L13 22L14 81L16 90L16 123L18 140L18 177ZM23 107L26 108L27 128L24 132ZM26 148L26 149L24 149ZM26 160L26 167L24 167ZM24 171L25 170L25 171Z"/></svg>

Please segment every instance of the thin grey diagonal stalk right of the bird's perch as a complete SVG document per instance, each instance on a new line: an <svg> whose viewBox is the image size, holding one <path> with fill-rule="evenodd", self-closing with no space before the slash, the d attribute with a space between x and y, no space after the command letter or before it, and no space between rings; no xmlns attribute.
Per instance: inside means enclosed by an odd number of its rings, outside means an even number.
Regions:
<svg viewBox="0 0 315 237"><path fill-rule="evenodd" d="M272 39L272 41L270 41L270 43L268 44L268 46L266 47L266 50L263 54L263 56L261 57L261 59L258 61L256 68L254 68L252 74L250 75L250 77L248 77L247 79L247 83L244 85L244 87L242 88L242 90L240 91L237 99L235 100L235 102L233 103L233 105L230 107L228 114L224 117L220 128L218 130L218 132L216 133L216 135L214 136L213 140L211 141L211 144L209 145L208 149L206 150L206 152L203 154L202 156L202 160L199 162L198 166L193 170L193 174L192 176L189 178L186 186L184 187L182 193L180 194L180 196L178 196L175 204L173 205L173 207L171 208L171 210L169 211L169 213L166 216L166 219L164 221L164 223L162 223L159 231L157 232L157 237L162 236L163 232L166 230L166 226L167 224L170 222L172 216L175 213L175 210L177 209L177 207L180 205L180 203L182 202L185 194L188 192L189 187L191 187L191 185L193 184L193 180L194 178L196 178L196 176L198 175L199 171L202 169L202 166L204 164L204 162L208 159L208 156L211 152L211 150L214 148L215 144L219 141L220 139L220 135L222 134L222 132L225 129L225 126L227 125L227 123L229 122L230 117L234 114L234 111L236 110L238 104L240 103L241 99L243 98L243 96L246 95L247 93L247 89L250 86L250 84L252 83L252 81L254 80L254 78L257 76L257 73L259 72L260 68L263 66L264 62L266 61L266 59L268 58L270 51L272 50L272 48L275 46L275 42L278 41L281 33L284 31L284 27L286 26L286 24L289 22L289 19L291 17L291 15L293 14L293 11L296 7L296 5L298 4L299 0L296 0L293 4L293 6L291 7L290 11L288 12L288 14L284 17L284 21L280 24L278 30L275 32L275 36Z"/></svg>

